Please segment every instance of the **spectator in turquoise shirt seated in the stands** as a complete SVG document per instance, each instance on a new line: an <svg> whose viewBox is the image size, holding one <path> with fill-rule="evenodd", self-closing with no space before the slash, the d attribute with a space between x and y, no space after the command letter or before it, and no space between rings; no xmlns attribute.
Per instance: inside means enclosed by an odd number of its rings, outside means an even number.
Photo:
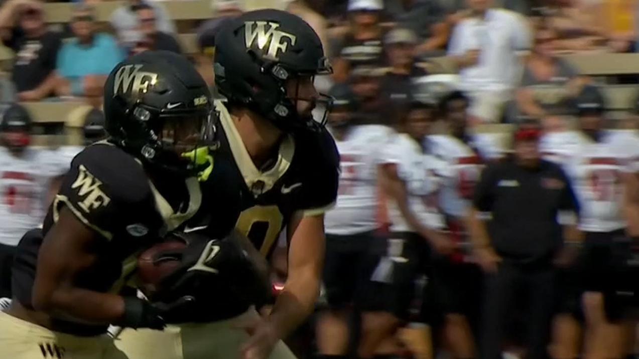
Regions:
<svg viewBox="0 0 639 359"><path fill-rule="evenodd" d="M96 32L91 5L77 5L71 29L75 37L58 54L56 91L59 96L84 96L98 105L107 75L122 61L123 51L113 36Z"/></svg>

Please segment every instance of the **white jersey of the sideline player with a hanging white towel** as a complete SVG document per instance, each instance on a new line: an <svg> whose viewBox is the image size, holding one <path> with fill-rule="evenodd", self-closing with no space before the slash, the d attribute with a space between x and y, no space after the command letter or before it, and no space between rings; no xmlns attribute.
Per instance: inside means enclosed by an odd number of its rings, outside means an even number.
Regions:
<svg viewBox="0 0 639 359"><path fill-rule="evenodd" d="M444 221L438 211L440 180L437 173L445 171L445 164L425 154L422 145L406 134L397 134L389 142L383 163L397 165L397 175L404 181L408 192L408 206L420 222L433 229L442 229ZM387 206L390 230L412 232L394 201L389 199Z"/></svg>

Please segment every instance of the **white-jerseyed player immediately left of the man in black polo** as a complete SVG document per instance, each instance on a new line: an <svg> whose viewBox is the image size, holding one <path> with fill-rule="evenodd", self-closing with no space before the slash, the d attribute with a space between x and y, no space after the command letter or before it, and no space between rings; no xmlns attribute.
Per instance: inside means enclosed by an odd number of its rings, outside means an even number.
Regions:
<svg viewBox="0 0 639 359"><path fill-rule="evenodd" d="M484 162L494 159L484 155L500 151L494 142L475 141L467 128L468 98L459 91L452 91L440 100L440 118L447 126L447 133L430 135L426 139L438 159L445 163L447 171L441 174L442 188L439 204L445 215L450 238L458 244L450 256L434 258L433 285L438 312L443 314L443 339L453 358L473 358L475 344L468 318L477 315L481 270L471 263L467 255L468 243L465 218L470 210L475 184ZM479 146L482 146L481 151ZM489 146L487 146L489 145Z"/></svg>

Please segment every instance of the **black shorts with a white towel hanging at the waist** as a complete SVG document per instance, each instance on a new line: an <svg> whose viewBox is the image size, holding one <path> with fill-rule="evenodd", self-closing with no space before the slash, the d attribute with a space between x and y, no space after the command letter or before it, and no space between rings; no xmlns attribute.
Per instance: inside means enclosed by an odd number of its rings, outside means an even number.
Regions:
<svg viewBox="0 0 639 359"><path fill-rule="evenodd" d="M371 247L364 273L366 280L358 303L364 311L390 312L408 319L411 308L423 302L422 290L416 282L431 271L431 249L427 241L415 233L394 233L378 238Z"/></svg>

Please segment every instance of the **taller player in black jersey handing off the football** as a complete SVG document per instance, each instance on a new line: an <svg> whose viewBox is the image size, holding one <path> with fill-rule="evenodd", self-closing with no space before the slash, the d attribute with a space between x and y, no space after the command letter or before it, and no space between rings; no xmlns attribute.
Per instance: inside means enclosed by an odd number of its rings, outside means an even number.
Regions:
<svg viewBox="0 0 639 359"><path fill-rule="evenodd" d="M269 256L286 229L288 279L265 317L249 310L254 298L232 298L164 332L124 330L116 345L133 359L292 358L280 339L318 296L323 213L337 196L339 165L335 142L311 116L323 100L314 76L330 73L321 42L295 15L258 10L224 22L215 44L215 83L227 98L215 102L219 148L206 201L184 230L216 238L235 227Z"/></svg>

